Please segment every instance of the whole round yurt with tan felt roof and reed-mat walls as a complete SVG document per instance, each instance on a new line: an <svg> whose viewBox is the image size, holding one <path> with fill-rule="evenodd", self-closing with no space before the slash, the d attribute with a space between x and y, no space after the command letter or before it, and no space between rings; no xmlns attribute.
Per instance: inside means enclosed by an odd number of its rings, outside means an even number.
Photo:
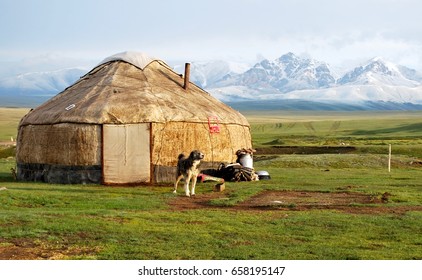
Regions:
<svg viewBox="0 0 422 280"><path fill-rule="evenodd" d="M124 52L104 59L19 124L17 176L63 184L171 182L177 157L198 149L202 167L252 148L250 126L159 59Z"/></svg>

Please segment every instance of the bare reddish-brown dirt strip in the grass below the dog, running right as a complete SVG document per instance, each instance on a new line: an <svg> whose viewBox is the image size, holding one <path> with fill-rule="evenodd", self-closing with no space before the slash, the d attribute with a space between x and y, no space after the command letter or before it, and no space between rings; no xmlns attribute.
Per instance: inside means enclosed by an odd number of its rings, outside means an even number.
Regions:
<svg viewBox="0 0 422 280"><path fill-rule="evenodd" d="M303 192L266 191L228 210L245 211L305 211L312 209L338 210L353 214L403 214L407 211L422 211L422 206L392 206L388 203L389 194L379 197L356 192ZM224 198L224 193L200 194L189 198L177 196L169 201L174 210L221 208L210 204L212 199Z"/></svg>

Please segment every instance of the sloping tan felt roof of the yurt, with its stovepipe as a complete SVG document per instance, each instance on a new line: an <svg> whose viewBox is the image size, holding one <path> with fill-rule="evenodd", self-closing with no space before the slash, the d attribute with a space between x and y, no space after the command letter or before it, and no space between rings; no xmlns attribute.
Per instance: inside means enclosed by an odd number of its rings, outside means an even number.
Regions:
<svg viewBox="0 0 422 280"><path fill-rule="evenodd" d="M70 87L26 115L21 125L208 122L249 126L246 118L144 53L107 57Z"/></svg>

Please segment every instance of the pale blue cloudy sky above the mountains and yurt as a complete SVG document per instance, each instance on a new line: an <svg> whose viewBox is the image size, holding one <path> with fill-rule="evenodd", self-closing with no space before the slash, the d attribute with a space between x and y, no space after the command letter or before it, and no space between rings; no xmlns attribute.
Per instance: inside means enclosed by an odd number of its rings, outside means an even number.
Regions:
<svg viewBox="0 0 422 280"><path fill-rule="evenodd" d="M127 50L169 64L380 56L422 72L420 11L420 0L0 0L0 78Z"/></svg>

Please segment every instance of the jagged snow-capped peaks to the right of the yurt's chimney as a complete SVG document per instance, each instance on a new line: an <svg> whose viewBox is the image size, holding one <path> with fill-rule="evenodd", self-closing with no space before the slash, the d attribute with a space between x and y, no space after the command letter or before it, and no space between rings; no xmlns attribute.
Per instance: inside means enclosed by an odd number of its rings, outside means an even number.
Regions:
<svg viewBox="0 0 422 280"><path fill-rule="evenodd" d="M263 60L207 90L223 101L297 99L422 104L422 75L377 57L336 79L328 64L288 53L274 61Z"/></svg>

